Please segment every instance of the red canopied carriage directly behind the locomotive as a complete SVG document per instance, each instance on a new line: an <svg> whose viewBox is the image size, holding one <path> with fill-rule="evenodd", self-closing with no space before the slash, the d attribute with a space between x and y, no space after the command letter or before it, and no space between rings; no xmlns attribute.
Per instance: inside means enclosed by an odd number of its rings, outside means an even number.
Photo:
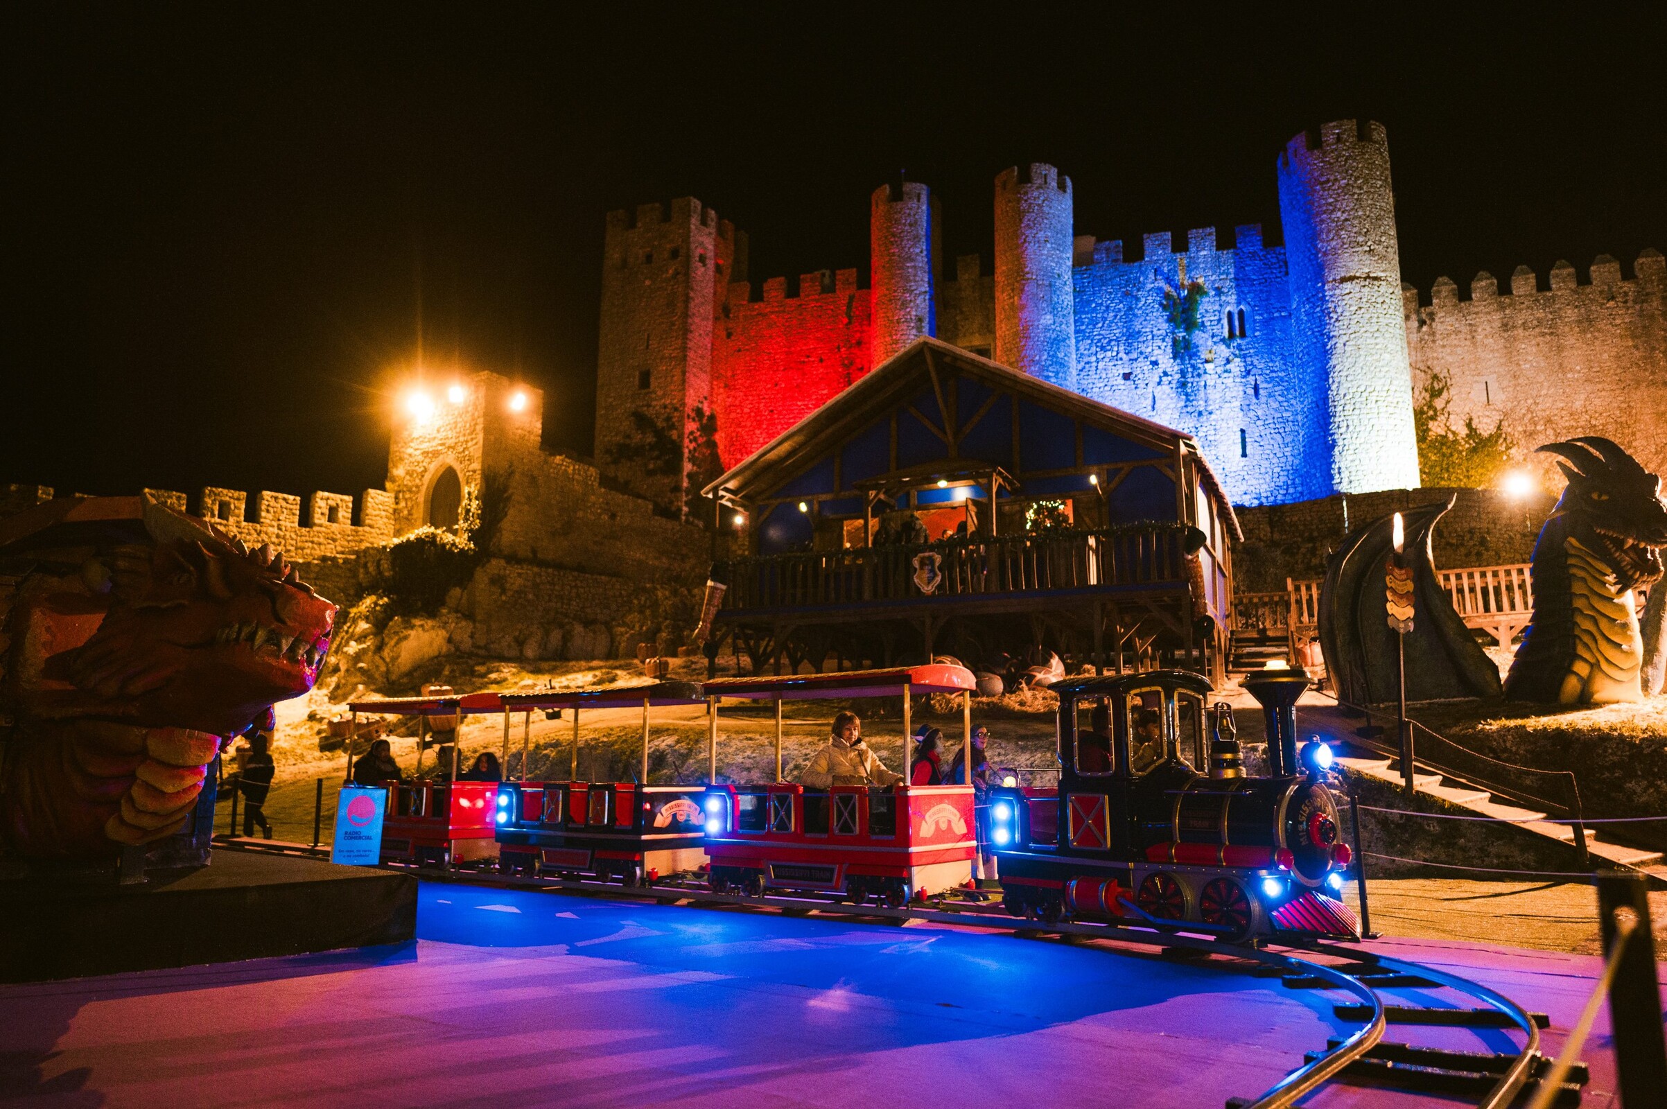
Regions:
<svg viewBox="0 0 1667 1109"><path fill-rule="evenodd" d="M705 795L705 849L713 892L752 896L813 891L862 904L870 897L902 906L910 896L970 884L977 852L972 785L910 785L909 697L960 694L962 749L970 764L970 690L959 665L919 665L793 677L733 677L705 684L712 699L710 752L717 780L717 702L723 697L777 705L775 782L713 784ZM889 789L782 782L782 702L904 697L899 770ZM875 745L877 747L877 745Z"/></svg>

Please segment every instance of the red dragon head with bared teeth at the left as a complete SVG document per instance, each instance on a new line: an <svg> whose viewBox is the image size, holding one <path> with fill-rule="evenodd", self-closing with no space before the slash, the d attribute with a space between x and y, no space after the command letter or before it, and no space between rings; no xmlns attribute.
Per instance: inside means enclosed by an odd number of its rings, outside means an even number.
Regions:
<svg viewBox="0 0 1667 1109"><path fill-rule="evenodd" d="M333 604L272 547L153 502L142 524L88 550L77 589L23 600L27 715L232 735L312 689Z"/></svg>

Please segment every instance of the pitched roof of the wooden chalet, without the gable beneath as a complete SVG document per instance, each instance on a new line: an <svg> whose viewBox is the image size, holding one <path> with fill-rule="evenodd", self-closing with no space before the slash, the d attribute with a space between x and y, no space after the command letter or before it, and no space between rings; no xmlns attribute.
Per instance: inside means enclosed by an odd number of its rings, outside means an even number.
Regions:
<svg viewBox="0 0 1667 1109"><path fill-rule="evenodd" d="M1060 389L1050 382L1020 374L990 359L979 357L940 339L924 337L900 350L884 365L854 382L820 409L793 424L752 457L732 467L707 485L707 497L748 500L758 490L768 490L790 479L807 460L834 450L842 440L860 430L879 412L905 402L920 392L924 384L937 385L944 370L984 382L997 392L1034 400L1092 427L1100 427L1120 439L1132 440L1152 450L1170 455L1179 449L1194 455L1204 487L1215 500L1217 510L1227 520L1235 539L1240 539L1239 520L1192 435L1164 424L1142 419L1132 412L1090 400L1082 394Z"/></svg>

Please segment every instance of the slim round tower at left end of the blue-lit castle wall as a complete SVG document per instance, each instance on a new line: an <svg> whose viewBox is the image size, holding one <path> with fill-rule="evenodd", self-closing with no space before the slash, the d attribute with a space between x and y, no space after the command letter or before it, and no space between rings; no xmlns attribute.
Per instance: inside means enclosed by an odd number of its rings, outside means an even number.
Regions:
<svg viewBox="0 0 1667 1109"><path fill-rule="evenodd" d="M1070 178L1052 165L995 177L995 360L1077 387Z"/></svg>

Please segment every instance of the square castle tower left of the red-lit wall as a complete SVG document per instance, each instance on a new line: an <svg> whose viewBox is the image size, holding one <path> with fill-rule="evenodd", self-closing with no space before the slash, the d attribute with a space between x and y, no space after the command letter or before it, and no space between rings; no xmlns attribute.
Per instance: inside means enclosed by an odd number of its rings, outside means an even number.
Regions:
<svg viewBox="0 0 1667 1109"><path fill-rule="evenodd" d="M743 258L745 237L692 197L607 217L597 467L667 514L683 512L690 415L712 397L712 320Z"/></svg>

